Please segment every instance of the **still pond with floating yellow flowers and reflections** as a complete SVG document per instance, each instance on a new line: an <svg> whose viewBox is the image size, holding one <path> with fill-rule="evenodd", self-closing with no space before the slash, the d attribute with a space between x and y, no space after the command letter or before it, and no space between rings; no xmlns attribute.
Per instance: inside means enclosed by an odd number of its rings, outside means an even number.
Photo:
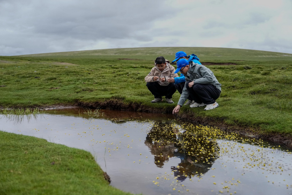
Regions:
<svg viewBox="0 0 292 195"><path fill-rule="evenodd" d="M171 114L83 109L0 115L0 130L92 153L111 185L133 194L292 194L292 154Z"/></svg>

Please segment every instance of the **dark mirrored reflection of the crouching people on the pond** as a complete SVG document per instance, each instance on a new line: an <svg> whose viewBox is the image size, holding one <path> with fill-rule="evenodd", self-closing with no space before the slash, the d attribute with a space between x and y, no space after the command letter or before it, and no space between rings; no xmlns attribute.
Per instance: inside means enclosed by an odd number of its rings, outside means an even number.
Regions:
<svg viewBox="0 0 292 195"><path fill-rule="evenodd" d="M180 158L181 162L171 170L176 179L183 181L187 177L202 176L218 158L218 143L209 134L210 131L201 131L198 136L195 131L180 131L169 121L156 121L147 134L145 145L154 155L157 167L163 167L171 157Z"/></svg>

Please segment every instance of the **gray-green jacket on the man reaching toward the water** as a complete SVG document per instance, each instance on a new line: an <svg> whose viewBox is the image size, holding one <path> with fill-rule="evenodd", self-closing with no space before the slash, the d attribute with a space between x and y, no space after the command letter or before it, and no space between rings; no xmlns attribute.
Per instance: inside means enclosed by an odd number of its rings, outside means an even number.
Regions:
<svg viewBox="0 0 292 195"><path fill-rule="evenodd" d="M190 69L187 71L187 76L185 76L186 84L187 81L194 81L194 84L212 84L217 89L221 91L221 84L218 82L214 73L208 69L206 66L190 62ZM180 95L178 100L178 105L183 105L185 100L189 97L189 91L186 86L183 88L183 93Z"/></svg>

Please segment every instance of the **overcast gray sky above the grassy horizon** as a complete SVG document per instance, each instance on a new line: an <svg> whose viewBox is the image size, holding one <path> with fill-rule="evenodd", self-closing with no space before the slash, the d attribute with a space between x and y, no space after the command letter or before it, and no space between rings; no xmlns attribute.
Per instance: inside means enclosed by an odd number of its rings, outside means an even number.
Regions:
<svg viewBox="0 0 292 195"><path fill-rule="evenodd" d="M0 0L0 55L128 47L292 53L292 0Z"/></svg>

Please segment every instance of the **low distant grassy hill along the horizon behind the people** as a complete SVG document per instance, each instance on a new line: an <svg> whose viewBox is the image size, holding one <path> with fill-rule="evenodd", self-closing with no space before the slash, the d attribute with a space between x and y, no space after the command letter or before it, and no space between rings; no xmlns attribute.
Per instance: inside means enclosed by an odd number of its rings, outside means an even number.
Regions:
<svg viewBox="0 0 292 195"><path fill-rule="evenodd" d="M98 49L88 51L58 52L46 54L22 55L21 57L71 57L79 58L87 56L90 58L125 58L154 60L158 56L173 60L175 52L184 51L187 54L196 54L201 61L277 61L292 59L292 54L266 52L251 49L231 49L215 47L145 47L145 48L119 48Z"/></svg>

